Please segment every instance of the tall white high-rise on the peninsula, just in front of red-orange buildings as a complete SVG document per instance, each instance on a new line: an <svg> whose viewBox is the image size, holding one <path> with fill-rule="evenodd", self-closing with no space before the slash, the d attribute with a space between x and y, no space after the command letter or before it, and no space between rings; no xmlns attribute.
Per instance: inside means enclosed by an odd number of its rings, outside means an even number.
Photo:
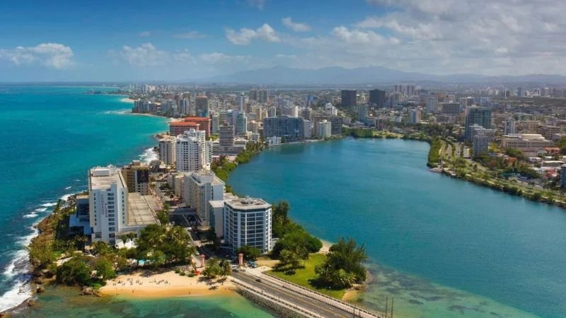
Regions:
<svg viewBox="0 0 566 318"><path fill-rule="evenodd" d="M212 163L212 141L202 130L190 129L177 136L177 172L208 169Z"/></svg>

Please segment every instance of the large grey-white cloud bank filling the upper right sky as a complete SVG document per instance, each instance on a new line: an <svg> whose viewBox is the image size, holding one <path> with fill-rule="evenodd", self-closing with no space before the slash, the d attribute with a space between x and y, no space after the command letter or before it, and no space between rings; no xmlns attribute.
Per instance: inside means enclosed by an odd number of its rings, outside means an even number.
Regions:
<svg viewBox="0 0 566 318"><path fill-rule="evenodd" d="M387 8L330 35L284 37L301 50L293 66L566 74L565 1L366 1Z"/></svg>

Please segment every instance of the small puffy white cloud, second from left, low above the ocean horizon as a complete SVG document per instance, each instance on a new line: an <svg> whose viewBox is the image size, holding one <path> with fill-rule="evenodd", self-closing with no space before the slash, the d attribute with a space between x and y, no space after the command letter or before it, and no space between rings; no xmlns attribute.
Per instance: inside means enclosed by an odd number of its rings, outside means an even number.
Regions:
<svg viewBox="0 0 566 318"><path fill-rule="evenodd" d="M124 45L119 52L111 51L110 54L122 58L132 66L158 66L166 64L170 60L168 52L156 49L151 43L144 43L139 47Z"/></svg>

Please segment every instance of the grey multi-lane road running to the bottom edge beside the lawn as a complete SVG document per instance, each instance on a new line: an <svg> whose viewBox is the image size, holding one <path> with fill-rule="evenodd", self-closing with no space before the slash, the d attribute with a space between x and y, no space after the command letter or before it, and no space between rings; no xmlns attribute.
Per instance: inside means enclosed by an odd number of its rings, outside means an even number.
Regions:
<svg viewBox="0 0 566 318"><path fill-rule="evenodd" d="M287 288L277 285L276 283L271 283L269 281L256 281L258 279L256 276L252 276L248 273L232 273L233 278L237 278L244 283L253 285L255 288L263 290L265 293L274 295L277 298L286 300L287 302L292 302L297 306L304 307L311 312L316 312L323 317L355 317L352 312L346 312L336 307L332 307L320 300L309 298L299 293L294 293Z"/></svg>

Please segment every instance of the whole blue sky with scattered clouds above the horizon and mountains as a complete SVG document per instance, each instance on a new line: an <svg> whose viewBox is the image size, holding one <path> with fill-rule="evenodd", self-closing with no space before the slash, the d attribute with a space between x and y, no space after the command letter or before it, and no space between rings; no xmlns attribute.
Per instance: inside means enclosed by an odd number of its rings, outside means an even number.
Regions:
<svg viewBox="0 0 566 318"><path fill-rule="evenodd" d="M558 0L1 1L0 81L387 66L566 73Z"/></svg>

